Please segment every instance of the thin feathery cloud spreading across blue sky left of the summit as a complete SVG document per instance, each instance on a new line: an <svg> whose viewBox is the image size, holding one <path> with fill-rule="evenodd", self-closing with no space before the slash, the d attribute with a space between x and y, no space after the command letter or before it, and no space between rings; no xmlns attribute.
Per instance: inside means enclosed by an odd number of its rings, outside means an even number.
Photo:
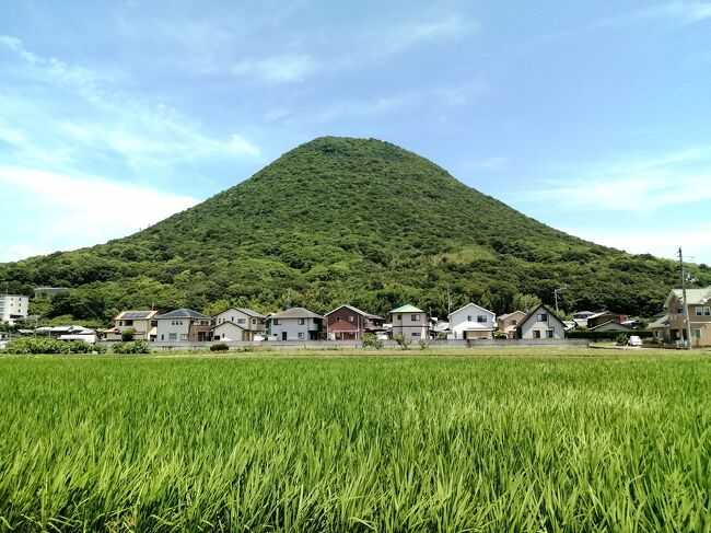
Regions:
<svg viewBox="0 0 711 533"><path fill-rule="evenodd" d="M123 90L123 80L110 74L39 57L10 36L0 36L0 47L15 56L15 77L34 86L23 95L7 84L0 103L0 137L14 144L23 164L37 161L47 170L54 153L55 164L82 167L89 153L113 151L137 174L155 174L186 162L259 157L246 139L235 150L233 139L206 135L176 109Z"/></svg>

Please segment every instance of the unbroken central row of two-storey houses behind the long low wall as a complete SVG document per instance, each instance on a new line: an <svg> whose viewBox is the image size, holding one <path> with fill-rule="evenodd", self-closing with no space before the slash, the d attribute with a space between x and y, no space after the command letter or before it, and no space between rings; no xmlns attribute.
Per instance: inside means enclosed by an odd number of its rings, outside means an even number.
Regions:
<svg viewBox="0 0 711 533"><path fill-rule="evenodd" d="M448 322L433 322L415 305L403 305L383 316L343 304L320 315L304 308L291 308L263 315L245 308L230 308L217 316L191 309L167 313L158 311L121 311L114 327L102 332L107 340L120 340L127 328L135 338L160 343L255 341L255 340L362 340L365 334L380 337L403 336L408 340L427 340L446 335L452 339L493 338L501 329L514 338L563 338L567 325L546 305L528 313L516 311L497 318L475 303L468 303L448 315Z"/></svg>

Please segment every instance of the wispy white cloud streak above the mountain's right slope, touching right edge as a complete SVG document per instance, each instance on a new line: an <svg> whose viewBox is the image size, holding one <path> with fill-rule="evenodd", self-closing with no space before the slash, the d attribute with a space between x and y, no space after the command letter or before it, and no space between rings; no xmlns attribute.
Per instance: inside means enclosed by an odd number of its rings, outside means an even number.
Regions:
<svg viewBox="0 0 711 533"><path fill-rule="evenodd" d="M569 211L654 211L711 200L711 148L562 169L560 179L531 183L523 193L551 209Z"/></svg>

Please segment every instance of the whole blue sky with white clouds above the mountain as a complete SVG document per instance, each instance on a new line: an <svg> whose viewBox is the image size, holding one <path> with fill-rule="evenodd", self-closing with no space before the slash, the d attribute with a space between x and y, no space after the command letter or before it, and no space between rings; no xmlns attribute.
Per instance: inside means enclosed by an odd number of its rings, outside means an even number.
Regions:
<svg viewBox="0 0 711 533"><path fill-rule="evenodd" d="M711 2L0 4L0 260L127 235L323 135L711 264Z"/></svg>

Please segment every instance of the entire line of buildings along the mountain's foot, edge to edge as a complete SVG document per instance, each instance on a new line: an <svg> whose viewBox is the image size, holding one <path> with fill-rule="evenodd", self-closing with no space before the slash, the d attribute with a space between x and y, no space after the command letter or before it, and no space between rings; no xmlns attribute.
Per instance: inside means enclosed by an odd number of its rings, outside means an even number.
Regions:
<svg viewBox="0 0 711 533"><path fill-rule="evenodd" d="M649 325L654 336L668 344L690 340L693 347L711 346L711 286L687 289L687 308L683 304L680 289L669 292L664 310ZM27 317L28 298L18 294L0 294L0 322L22 322ZM688 327L687 327L687 315ZM190 309L167 313L159 311L127 310L114 318L112 328L98 332L108 340L120 340L127 328L135 331L135 338L163 343L196 343L210 340L361 340L366 333L381 337L401 335L409 340L446 337L451 339L492 338L500 332L509 338L563 338L572 328L592 332L631 332L641 327L639 322L625 314L608 311L579 311L572 321L561 321L544 304L528 312L514 311L496 316L475 303L468 303L447 316L447 321L433 320L421 309L407 304L383 316L343 304L320 315L304 308L291 308L279 313L264 315L245 308L231 308L217 316L208 316ZM45 331L46 329L46 331ZM93 331L81 326L54 326L27 334L46 334L66 339L89 338Z"/></svg>

